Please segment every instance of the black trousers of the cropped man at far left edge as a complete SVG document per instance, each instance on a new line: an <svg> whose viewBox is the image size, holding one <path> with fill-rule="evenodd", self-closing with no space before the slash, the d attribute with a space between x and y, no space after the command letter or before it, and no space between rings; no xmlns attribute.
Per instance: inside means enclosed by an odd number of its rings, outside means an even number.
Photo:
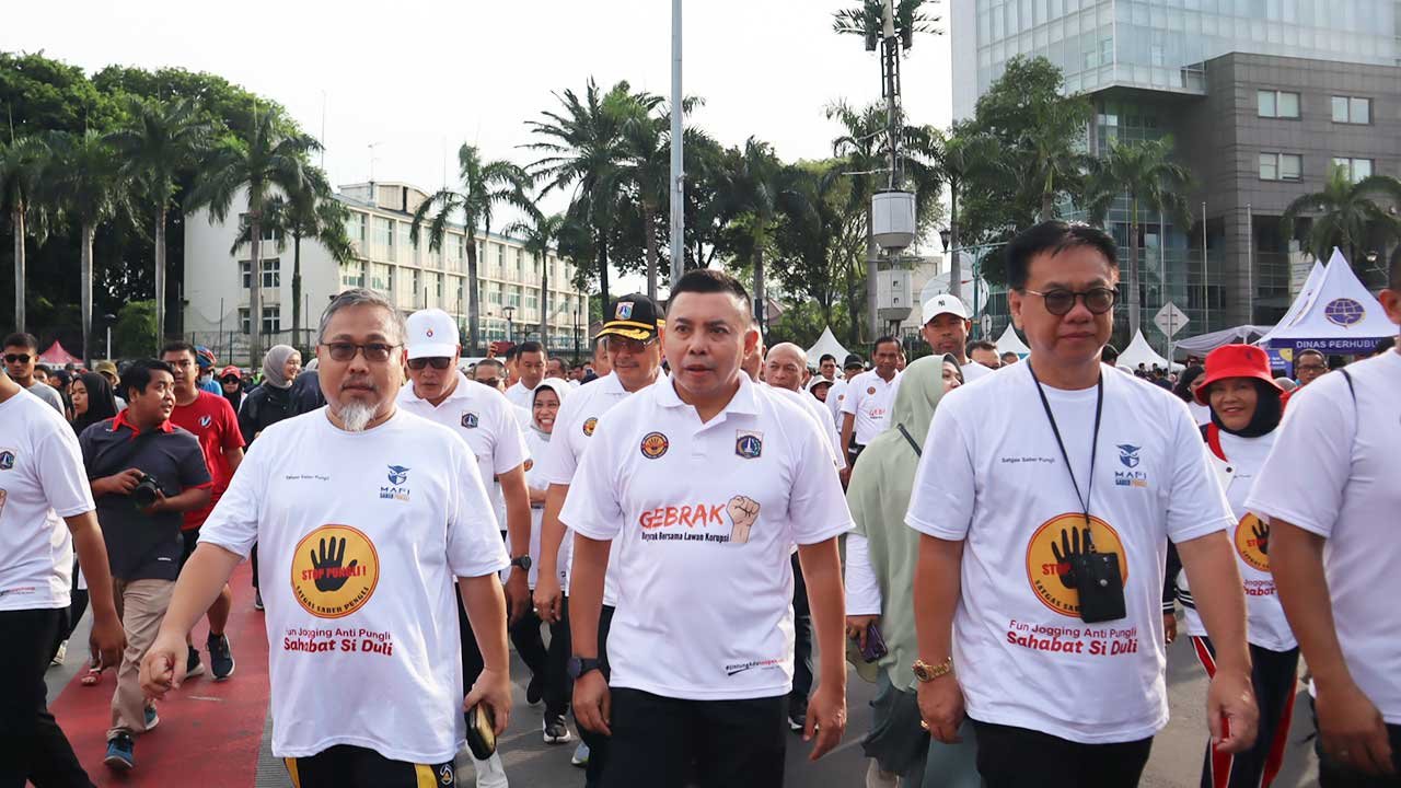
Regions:
<svg viewBox="0 0 1401 788"><path fill-rule="evenodd" d="M0 611L0 788L90 788L63 729L49 714L43 672L63 609Z"/></svg>

